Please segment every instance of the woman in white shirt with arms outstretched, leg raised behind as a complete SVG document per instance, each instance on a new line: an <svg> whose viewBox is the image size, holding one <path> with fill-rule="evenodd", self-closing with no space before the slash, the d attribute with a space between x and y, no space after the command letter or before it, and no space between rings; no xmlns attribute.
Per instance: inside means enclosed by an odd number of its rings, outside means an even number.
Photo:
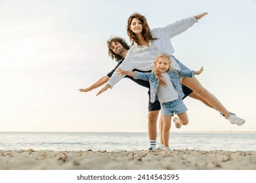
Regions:
<svg viewBox="0 0 256 183"><path fill-rule="evenodd" d="M167 53L170 56L174 53L174 48L170 39L175 35L179 35L183 31L186 31L189 27L194 25L200 18L205 16L207 12L198 14L196 16L184 18L173 24L165 27L160 27L150 30L146 18L139 13L132 14L127 22L127 34L130 40L133 42L127 57L123 63L119 66L120 69L132 71L133 69L139 69L141 71L154 70L154 58L158 54ZM175 69L184 70L188 69L179 60L172 56L175 63ZM121 80L121 76L116 72L106 86L98 92L98 94L112 88ZM242 125L245 123L244 119L239 118L234 114L230 114L228 110L221 104L221 102L210 92L208 92L200 82L195 78L183 78L182 84L193 90L196 94L202 97L209 105L219 110L231 124ZM97 95L98 95L97 94Z"/></svg>

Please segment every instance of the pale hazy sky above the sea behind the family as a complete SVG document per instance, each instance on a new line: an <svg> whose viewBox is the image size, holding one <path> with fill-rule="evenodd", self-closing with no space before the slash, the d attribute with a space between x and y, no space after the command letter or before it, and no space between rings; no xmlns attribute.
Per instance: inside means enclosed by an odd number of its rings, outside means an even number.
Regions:
<svg viewBox="0 0 256 183"><path fill-rule="evenodd" d="M256 1L0 1L0 131L147 132L148 89L124 78L101 95L79 92L116 66L106 41L133 12L150 28L208 12L171 40L173 54L230 112L187 97L189 124L171 131L256 131ZM130 43L130 42L129 42ZM174 126L174 125L173 125Z"/></svg>

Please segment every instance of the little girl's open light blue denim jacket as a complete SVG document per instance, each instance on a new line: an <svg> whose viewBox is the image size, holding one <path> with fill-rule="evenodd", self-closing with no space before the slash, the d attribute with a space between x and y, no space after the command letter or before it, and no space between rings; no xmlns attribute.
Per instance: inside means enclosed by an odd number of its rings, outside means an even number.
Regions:
<svg viewBox="0 0 256 183"><path fill-rule="evenodd" d="M169 77L171 78L171 82L175 86L179 94L179 98L182 99L184 97L184 93L182 92L181 84L179 82L179 76L190 77L194 76L194 71L191 70L181 70L181 71L167 71ZM141 73L135 71L135 79L148 80L150 82L150 102L154 103L156 99L156 92L158 91L159 82L154 73Z"/></svg>

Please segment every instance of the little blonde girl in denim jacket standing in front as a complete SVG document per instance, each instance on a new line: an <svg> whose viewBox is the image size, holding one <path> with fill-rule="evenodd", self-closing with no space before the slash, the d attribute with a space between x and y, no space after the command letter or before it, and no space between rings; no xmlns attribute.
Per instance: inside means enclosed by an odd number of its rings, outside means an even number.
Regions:
<svg viewBox="0 0 256 183"><path fill-rule="evenodd" d="M150 82L150 99L154 101L156 95L161 103L161 116L163 120L163 129L161 136L163 137L164 150L169 151L169 131L171 129L171 118L177 114L179 118L174 120L176 127L188 124L188 116L186 114L186 106L182 101L184 93L179 82L179 77L192 77L200 75L200 71L179 70L177 71L173 65L173 59L169 54L160 54L154 61L153 73L141 73L133 71L125 71L118 69L121 76L129 75L135 79L148 80Z"/></svg>

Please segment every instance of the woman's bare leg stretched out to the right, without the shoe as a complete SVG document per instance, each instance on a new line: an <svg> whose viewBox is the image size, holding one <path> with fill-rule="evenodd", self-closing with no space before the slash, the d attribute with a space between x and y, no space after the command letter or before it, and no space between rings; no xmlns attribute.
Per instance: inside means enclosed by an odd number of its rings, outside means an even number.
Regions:
<svg viewBox="0 0 256 183"><path fill-rule="evenodd" d="M230 117L230 113L228 112L228 110L226 110L226 108L221 104L221 102L213 94L211 94L205 88L203 88L203 86L195 77L184 78L182 80L182 84L184 84L188 88L191 88L193 92L195 92L199 97L207 101L209 105L221 111L221 113L223 113L227 118Z"/></svg>

